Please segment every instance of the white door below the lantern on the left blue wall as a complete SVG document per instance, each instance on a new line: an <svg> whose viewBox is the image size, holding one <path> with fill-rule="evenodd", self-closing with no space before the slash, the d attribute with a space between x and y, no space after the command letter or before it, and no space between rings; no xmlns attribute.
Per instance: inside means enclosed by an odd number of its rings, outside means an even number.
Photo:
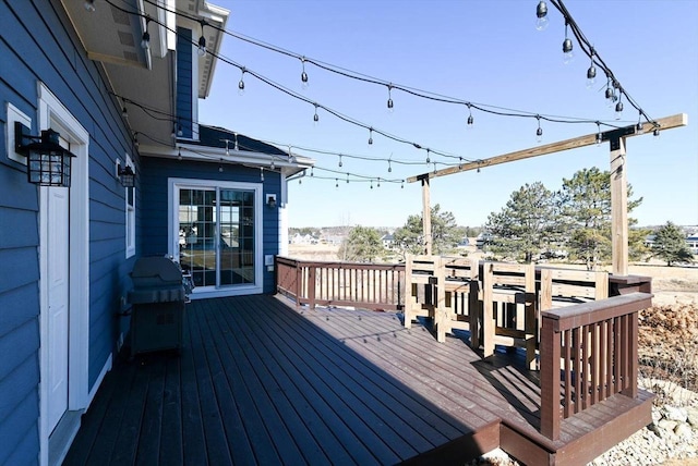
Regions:
<svg viewBox="0 0 698 466"><path fill-rule="evenodd" d="M43 187L46 209L46 290L48 298L48 427L68 409L69 356L69 188Z"/></svg>

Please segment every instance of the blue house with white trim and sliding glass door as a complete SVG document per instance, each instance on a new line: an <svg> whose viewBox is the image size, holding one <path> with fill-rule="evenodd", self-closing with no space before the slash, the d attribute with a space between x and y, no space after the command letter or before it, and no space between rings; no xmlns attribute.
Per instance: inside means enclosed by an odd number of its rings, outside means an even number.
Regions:
<svg viewBox="0 0 698 466"><path fill-rule="evenodd" d="M0 464L61 463L128 331L136 258L180 261L193 298L273 292L286 180L310 161L198 124L228 14L205 0L0 2ZM213 53L197 53L202 29ZM60 134L70 187L27 182L15 122Z"/></svg>

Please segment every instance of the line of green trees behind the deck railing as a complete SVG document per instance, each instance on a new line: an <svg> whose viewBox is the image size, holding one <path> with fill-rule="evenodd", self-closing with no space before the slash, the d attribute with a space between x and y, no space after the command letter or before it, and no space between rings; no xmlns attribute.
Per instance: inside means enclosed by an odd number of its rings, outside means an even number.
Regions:
<svg viewBox="0 0 698 466"><path fill-rule="evenodd" d="M693 261L681 228L667 222L654 235L648 248L648 229L636 228L630 217L642 198L633 198L628 185L628 250L630 260L659 257L673 265ZM432 252L453 254L464 237L474 233L456 224L455 216L440 205L431 208ZM588 269L611 260L611 173L598 168L582 169L563 179L557 191L543 183L525 184L512 193L506 205L492 212L483 228L490 238L484 248L494 259L538 262L551 258L585 263ZM423 254L424 237L421 213L409 216L405 225L393 234L386 250L381 233L368 226L356 226L340 246L339 258L373 261L377 258L404 259L406 254ZM395 257L397 256L397 257Z"/></svg>

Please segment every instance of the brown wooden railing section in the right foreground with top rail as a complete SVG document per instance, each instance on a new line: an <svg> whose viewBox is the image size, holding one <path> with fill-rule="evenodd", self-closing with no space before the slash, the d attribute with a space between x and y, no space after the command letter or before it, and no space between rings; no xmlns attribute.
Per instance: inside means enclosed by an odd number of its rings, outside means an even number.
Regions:
<svg viewBox="0 0 698 466"><path fill-rule="evenodd" d="M638 312L651 305L636 292L541 312L543 436L557 440L562 419L614 394L637 396Z"/></svg>

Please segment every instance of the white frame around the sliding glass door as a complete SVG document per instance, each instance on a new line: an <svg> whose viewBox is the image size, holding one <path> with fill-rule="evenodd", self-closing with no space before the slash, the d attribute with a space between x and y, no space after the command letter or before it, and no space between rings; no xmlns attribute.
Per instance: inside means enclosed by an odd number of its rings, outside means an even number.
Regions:
<svg viewBox="0 0 698 466"><path fill-rule="evenodd" d="M167 244L168 255L179 261L179 206L178 193L179 188L198 188L198 187L218 187L224 189L246 189L254 191L254 284L236 285L216 291L194 292L191 294L192 299L239 296L246 294L261 294L264 290L264 200L262 199L262 183L238 183L218 180L190 180L171 177L168 179L167 193L169 199L169 208L167 209Z"/></svg>

